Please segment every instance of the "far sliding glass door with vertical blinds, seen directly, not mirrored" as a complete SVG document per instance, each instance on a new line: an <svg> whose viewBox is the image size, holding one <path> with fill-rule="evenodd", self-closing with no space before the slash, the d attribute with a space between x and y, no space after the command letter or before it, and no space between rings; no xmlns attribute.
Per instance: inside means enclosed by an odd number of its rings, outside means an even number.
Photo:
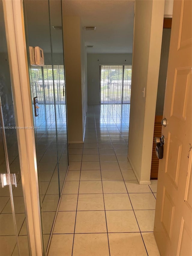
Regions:
<svg viewBox="0 0 192 256"><path fill-rule="evenodd" d="M131 65L101 65L101 104L129 104L131 98Z"/></svg>

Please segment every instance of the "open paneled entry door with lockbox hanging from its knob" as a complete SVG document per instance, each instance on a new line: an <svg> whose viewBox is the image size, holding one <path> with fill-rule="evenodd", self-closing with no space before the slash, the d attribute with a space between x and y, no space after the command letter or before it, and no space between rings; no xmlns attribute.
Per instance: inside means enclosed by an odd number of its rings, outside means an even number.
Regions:
<svg viewBox="0 0 192 256"><path fill-rule="evenodd" d="M159 161L154 234L161 255L191 256L192 1L174 1L164 157Z"/></svg>

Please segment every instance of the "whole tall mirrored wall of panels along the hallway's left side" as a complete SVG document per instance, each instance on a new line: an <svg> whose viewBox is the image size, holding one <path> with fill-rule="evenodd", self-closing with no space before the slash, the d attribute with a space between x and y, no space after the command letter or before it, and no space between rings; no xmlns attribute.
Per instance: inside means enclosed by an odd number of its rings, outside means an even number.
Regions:
<svg viewBox="0 0 192 256"><path fill-rule="evenodd" d="M46 251L68 168L61 1L24 1L24 13Z"/></svg>

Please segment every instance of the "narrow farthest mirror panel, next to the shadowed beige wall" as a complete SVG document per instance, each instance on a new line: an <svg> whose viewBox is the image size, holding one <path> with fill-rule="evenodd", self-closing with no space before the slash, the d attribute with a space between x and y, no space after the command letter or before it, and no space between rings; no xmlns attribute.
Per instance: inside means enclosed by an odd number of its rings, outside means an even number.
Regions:
<svg viewBox="0 0 192 256"><path fill-rule="evenodd" d="M55 88L55 113L57 123L59 184L62 190L68 167L67 115L65 101L65 74L63 58L63 34L61 1L50 0L50 24L52 38L53 77Z"/></svg>

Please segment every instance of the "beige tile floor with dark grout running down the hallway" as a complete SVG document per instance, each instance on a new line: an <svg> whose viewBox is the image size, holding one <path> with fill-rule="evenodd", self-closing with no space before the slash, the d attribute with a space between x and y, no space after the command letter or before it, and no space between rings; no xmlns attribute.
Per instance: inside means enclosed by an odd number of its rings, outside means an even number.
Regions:
<svg viewBox="0 0 192 256"><path fill-rule="evenodd" d="M139 185L127 159L130 105L88 106L84 144L70 168L50 256L159 256L153 234L157 181Z"/></svg>

